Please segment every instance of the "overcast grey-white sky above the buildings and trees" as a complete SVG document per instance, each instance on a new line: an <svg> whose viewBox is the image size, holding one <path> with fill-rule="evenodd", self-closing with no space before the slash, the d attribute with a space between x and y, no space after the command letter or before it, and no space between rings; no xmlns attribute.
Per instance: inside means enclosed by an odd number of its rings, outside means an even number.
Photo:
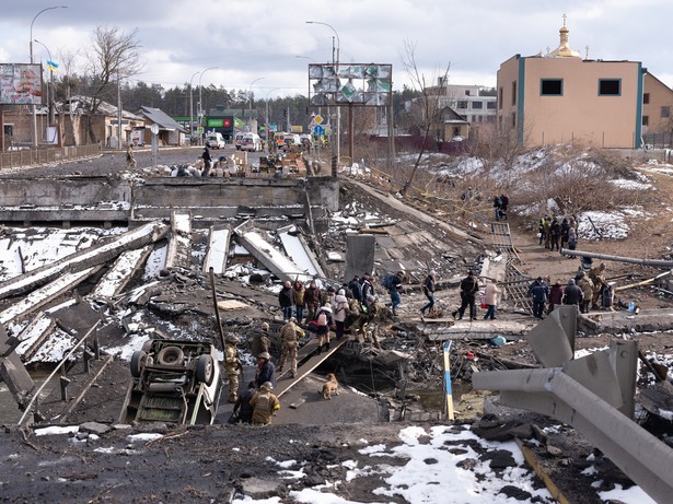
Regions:
<svg viewBox="0 0 673 504"><path fill-rule="evenodd" d="M68 8L37 15L58 4ZM641 61L673 85L670 0L2 0L0 62L30 61L32 23L57 62L62 51L86 50L96 26L138 28L139 81L169 89L194 75L195 86L252 85L260 98L308 95L306 58L330 62L336 32L341 62L392 63L394 89L410 83L409 44L429 83L450 66L450 83L495 86L502 61L558 46L564 13L571 48ZM42 45L33 51L46 63ZM209 67L218 68L195 75Z"/></svg>

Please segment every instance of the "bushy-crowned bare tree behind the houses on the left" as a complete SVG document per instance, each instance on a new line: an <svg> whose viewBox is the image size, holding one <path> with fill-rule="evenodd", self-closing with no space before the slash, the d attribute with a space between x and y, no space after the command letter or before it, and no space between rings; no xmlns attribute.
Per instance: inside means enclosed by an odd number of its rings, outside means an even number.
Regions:
<svg viewBox="0 0 673 504"><path fill-rule="evenodd" d="M90 99L86 106L86 131L91 142L95 143L93 116L97 113L101 102L113 95L123 79L140 72L141 62L138 50L140 43L136 36L138 28L130 33L120 32L117 27L96 27L91 37L91 48L86 51L86 73L91 82Z"/></svg>

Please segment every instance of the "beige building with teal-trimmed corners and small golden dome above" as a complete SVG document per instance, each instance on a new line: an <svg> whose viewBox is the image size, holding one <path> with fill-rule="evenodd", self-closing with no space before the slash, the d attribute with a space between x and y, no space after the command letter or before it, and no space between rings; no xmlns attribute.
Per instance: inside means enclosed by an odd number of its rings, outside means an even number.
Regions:
<svg viewBox="0 0 673 504"><path fill-rule="evenodd" d="M582 59L560 28L547 55L515 55L498 70L498 128L520 145L581 143L639 148L643 69L639 61Z"/></svg>

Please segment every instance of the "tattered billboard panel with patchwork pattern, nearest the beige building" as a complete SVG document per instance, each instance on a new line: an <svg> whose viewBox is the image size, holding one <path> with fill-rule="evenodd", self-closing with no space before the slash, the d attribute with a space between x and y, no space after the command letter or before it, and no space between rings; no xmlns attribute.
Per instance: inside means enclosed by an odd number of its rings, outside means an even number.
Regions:
<svg viewBox="0 0 673 504"><path fill-rule="evenodd" d="M393 66L380 63L309 65L311 105L388 105Z"/></svg>

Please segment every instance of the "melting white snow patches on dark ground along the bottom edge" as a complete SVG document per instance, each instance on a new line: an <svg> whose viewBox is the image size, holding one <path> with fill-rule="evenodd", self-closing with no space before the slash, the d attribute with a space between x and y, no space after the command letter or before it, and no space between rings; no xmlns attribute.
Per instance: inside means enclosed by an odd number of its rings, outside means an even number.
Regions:
<svg viewBox="0 0 673 504"><path fill-rule="evenodd" d="M546 489L538 489L534 473L524 462L523 455L514 442L495 443L475 436L465 426L405 427L399 431L402 444L364 446L359 452L369 456L361 462L346 460L346 481L328 481L324 485L290 491L293 502L306 504L358 504L336 495L344 484L358 484L358 479L379 479L382 484L373 490L367 502L387 504L402 496L414 504L512 504L553 503ZM367 442L364 441L367 444ZM478 449L475 450L475 448ZM511 456L511 464L502 470L490 467L490 454L495 452ZM387 461L391 460L391 464ZM303 462L277 461L279 473L288 479L303 477ZM595 472L595 471L594 471ZM509 497L508 487L522 493L518 499ZM376 499L375 495L380 496ZM650 504L653 501L638 487L628 490L615 489L602 492L601 499ZM236 495L234 503L279 504L280 497L254 500Z"/></svg>

